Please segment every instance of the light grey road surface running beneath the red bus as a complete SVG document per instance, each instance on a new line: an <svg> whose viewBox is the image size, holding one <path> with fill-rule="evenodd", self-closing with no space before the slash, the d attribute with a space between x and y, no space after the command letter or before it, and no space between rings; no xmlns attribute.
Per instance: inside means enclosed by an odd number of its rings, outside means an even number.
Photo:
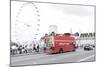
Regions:
<svg viewBox="0 0 100 67"><path fill-rule="evenodd" d="M77 49L75 52L67 52L62 54L47 55L42 53L16 56L11 57L11 66L69 63L81 61L95 61L95 51L84 51L82 49Z"/></svg>

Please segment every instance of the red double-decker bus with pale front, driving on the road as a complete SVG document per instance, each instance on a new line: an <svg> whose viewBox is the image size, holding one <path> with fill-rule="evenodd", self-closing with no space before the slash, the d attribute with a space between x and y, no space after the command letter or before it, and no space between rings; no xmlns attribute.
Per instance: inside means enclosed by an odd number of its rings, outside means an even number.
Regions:
<svg viewBox="0 0 100 67"><path fill-rule="evenodd" d="M75 37L71 34L56 34L51 36L51 48L47 51L48 54L63 53L75 51L76 41Z"/></svg>

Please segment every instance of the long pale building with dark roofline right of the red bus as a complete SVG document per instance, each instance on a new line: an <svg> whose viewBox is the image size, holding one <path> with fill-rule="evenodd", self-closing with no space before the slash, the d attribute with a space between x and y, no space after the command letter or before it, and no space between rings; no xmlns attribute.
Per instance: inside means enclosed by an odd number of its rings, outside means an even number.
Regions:
<svg viewBox="0 0 100 67"><path fill-rule="evenodd" d="M78 46L85 46L87 44L95 45L95 32L75 33L75 36Z"/></svg>

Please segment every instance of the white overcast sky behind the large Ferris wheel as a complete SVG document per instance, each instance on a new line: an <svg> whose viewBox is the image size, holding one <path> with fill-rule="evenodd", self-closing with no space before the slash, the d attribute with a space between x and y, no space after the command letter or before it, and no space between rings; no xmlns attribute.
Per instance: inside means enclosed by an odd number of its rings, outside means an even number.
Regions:
<svg viewBox="0 0 100 67"><path fill-rule="evenodd" d="M35 33L40 37L48 33L49 25L57 25L58 33L70 32L94 32L94 7L34 3L39 10L40 17L32 4L25 5L25 2L11 2L11 36L16 41L32 41ZM40 19L40 22L37 19ZM40 31L37 32L37 24L40 24ZM29 27L27 27L29 25Z"/></svg>

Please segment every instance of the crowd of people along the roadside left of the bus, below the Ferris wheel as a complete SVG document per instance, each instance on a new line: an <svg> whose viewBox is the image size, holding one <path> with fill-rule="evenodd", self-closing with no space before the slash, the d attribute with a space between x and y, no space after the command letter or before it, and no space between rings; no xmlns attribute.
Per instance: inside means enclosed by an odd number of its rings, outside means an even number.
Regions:
<svg viewBox="0 0 100 67"><path fill-rule="evenodd" d="M43 51L46 52L46 47L43 47ZM11 55L16 54L25 54L25 53L39 53L40 52L40 46L39 45L33 45L33 47L28 48L28 46L18 46L18 45L12 45L11 46Z"/></svg>

